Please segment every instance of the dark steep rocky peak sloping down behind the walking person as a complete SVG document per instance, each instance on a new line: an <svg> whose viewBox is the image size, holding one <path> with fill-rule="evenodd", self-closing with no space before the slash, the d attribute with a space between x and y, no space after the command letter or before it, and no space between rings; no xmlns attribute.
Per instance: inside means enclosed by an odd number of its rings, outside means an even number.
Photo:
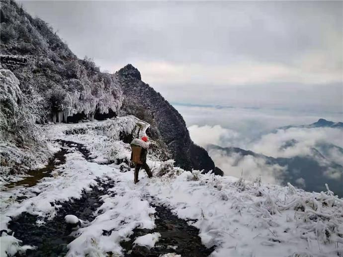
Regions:
<svg viewBox="0 0 343 257"><path fill-rule="evenodd" d="M132 114L150 123L148 135L159 141L160 147L169 149L177 166L187 170L213 170L223 175L206 150L192 142L182 116L141 80L137 68L128 64L115 73L115 78L124 96L121 114Z"/></svg>

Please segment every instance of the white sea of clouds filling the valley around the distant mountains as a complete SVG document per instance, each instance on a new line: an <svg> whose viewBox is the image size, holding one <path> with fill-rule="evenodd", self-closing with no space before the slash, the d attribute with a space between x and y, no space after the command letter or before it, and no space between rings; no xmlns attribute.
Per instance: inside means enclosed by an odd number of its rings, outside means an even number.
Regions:
<svg viewBox="0 0 343 257"><path fill-rule="evenodd" d="M285 167L267 164L265 159L239 153L228 155L220 149L208 148L214 144L221 147L239 147L274 158L313 156L313 148L323 143L343 147L343 129L338 128L288 128L288 125L312 124L320 118L334 122L343 120L341 113L306 113L289 110L252 108L211 108L197 106L175 106L184 117L192 140L208 149L216 166L227 176L241 176L254 179L261 176L262 181L280 184L280 175ZM289 141L295 141L287 145ZM317 158L315 156L315 158ZM335 161L343 165L343 154L338 149L326 152L326 160L318 158L321 165ZM341 179L342 172L328 170L325 176ZM302 178L299 186L306 185Z"/></svg>

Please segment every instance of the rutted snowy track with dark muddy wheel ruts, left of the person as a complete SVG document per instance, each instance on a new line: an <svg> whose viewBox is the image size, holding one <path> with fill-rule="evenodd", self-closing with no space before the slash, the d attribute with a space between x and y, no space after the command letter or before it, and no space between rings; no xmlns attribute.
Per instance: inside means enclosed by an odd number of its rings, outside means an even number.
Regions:
<svg viewBox="0 0 343 257"><path fill-rule="evenodd" d="M65 163L67 167L72 166L73 169L75 169L76 167L72 163L77 161L83 161L84 167L89 165L89 160L85 158L85 155L82 156L79 151L81 148L80 144L74 143L74 147L70 147L73 146L73 144L66 145L64 143L63 145L64 147L67 147L69 152ZM91 165L98 165L98 168L100 169L105 167L105 170L108 167L97 163L91 163ZM21 203L23 207L34 207L35 211L27 209L18 210L17 208L11 208L10 205L7 206L7 214L11 216L17 216L20 212L24 212L13 221L10 221L8 228L15 232L16 237L23 240L25 244L38 247L38 249L33 251L27 250L25 255L52 256L67 254L68 256L92 256L99 254L103 255L107 252L121 253L122 251L119 243L128 238L132 232L135 232L131 235L131 238L133 239L132 242L128 242L124 245L127 250L133 253L130 256L145 256L144 253L147 253L149 249L144 246L144 244L148 243L149 245L150 243L149 240L147 241L147 239L144 238L151 235L149 233L150 231L147 231L147 229L158 229L159 232L156 232L155 234L158 234L159 237L165 241L159 243L159 248L155 248L155 251L152 250L150 252L151 256L160 256L161 254L169 253L169 249L173 249L175 252L180 253L183 253L184 251L190 253L191 251L195 251L197 253L196 256L199 257L208 256L213 251L206 250L206 248L201 245L201 240L197 236L198 230L189 227L186 222L184 222L182 226L178 224L178 226L182 228L182 232L180 232L179 229L154 225L155 216L153 214L162 216L162 212L156 212L155 207L152 207L147 201L147 196L143 195L142 192L137 191L134 186L127 188L127 186L129 186L128 184L132 184L130 183L132 181L131 176L120 176L123 174L120 173L115 166L116 165L112 165L112 168L108 168L108 173L103 173L102 175L97 174L97 178L94 178L93 183L88 185L89 188L86 188L86 191L84 192L80 192L79 197L77 197L76 194L73 194L71 200L67 200L68 196L67 198L62 199L59 197L58 193L46 190L40 192L36 196L28 194L28 196L31 197L25 199ZM95 167L96 166L93 166L93 169L95 169ZM58 174L60 170L65 170L65 168L63 166L59 167L55 174ZM86 169L86 171L87 170L88 169ZM82 173L80 169L75 171ZM71 172L68 173L70 174ZM61 179L62 183L66 183L65 180L69 180L68 175L66 175L67 174L64 171L60 174L60 178L57 177L59 175L57 175L56 178ZM83 173L83 175L85 175L85 173ZM127 173L127 175L132 174ZM56 182L57 181L55 181L55 183ZM77 182L77 180L75 180L75 182ZM85 183L83 184L86 185ZM38 183L37 186L33 186L32 188L21 188L20 195L26 194L26 192L41 186L42 184ZM60 185L55 186L57 186L58 189L61 189ZM17 190L19 190L19 188L14 188L11 191L11 193L14 193L12 195L17 196ZM66 187L64 190L69 191L70 189ZM34 192L37 192L37 189L34 189ZM8 192L8 194L9 193L10 192ZM40 205L38 206L36 202L39 202ZM50 208L50 213L45 212L43 205ZM88 207L88 205L90 206ZM114 206L116 207L116 210L113 209ZM172 214L165 207L158 206L158 208L163 210L164 213L167 213L167 215L164 214L166 216L165 219L159 218L159 222L161 223L162 221L165 225L166 219L170 219ZM91 210L90 212L89 209ZM14 211L14 213L11 211ZM15 211L17 212L15 213ZM41 215L38 215L38 217L35 216L37 213ZM68 236L72 232L69 231L66 224L64 224L64 216L68 214L77 215L82 221L82 228L72 233L73 236L81 234L77 239ZM173 220L175 219L177 220L177 218L174 218ZM177 226L172 220L168 221L171 222L171 226ZM187 227L189 227L189 229L187 229ZM114 244L114 246L112 244L112 247L105 250L102 248L89 249L89 247L86 247L86 250L84 249L88 243L91 245L94 244L94 240L97 240L99 244L104 244L104 246L110 245L110 242L107 242L106 244L106 241L112 241L111 237L113 237L115 233L119 234L117 235L116 244ZM142 237L144 240L136 239L136 237L142 236L142 233L145 235L145 237ZM167 237L166 235L163 235L164 233L168 234ZM169 236L171 234L173 235ZM8 237L8 239L10 239L10 237ZM44 239L44 243L42 243L42 239ZM176 245L173 244L175 241L177 241ZM71 243L71 250L69 252L67 252L68 249L66 247L68 243ZM137 244L141 244L141 246ZM135 245L137 246L133 248ZM13 249L15 248L17 247L13 247ZM139 251L141 254L139 254ZM154 255L153 252L156 255Z"/></svg>

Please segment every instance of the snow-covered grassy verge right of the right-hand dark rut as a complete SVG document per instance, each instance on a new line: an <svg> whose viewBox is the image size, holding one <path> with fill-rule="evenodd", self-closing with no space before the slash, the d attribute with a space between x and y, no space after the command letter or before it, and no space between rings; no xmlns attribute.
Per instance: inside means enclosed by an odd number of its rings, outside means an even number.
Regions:
<svg viewBox="0 0 343 257"><path fill-rule="evenodd" d="M178 217L197 219L202 243L217 246L214 257L343 255L343 200L331 193L212 174L192 177L184 172L140 187Z"/></svg>

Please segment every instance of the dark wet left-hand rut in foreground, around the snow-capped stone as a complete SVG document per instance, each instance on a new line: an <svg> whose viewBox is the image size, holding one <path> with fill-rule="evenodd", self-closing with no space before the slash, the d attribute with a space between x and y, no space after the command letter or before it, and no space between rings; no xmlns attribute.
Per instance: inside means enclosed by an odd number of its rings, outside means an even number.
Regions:
<svg viewBox="0 0 343 257"><path fill-rule="evenodd" d="M111 187L110 180L96 180L98 186L92 187L89 192L84 191L80 199L70 199L66 202L51 202L57 209L56 216L49 220L23 212L9 222L8 228L14 232L17 239L22 240L24 245L33 245L35 250L27 250L23 256L29 257L57 257L65 256L68 252L67 245L75 237L70 236L72 230L65 223L64 217L68 214L76 215L83 224L91 222L98 214L95 210L101 206L99 196L106 194ZM38 225L37 220L44 221ZM20 256L20 255L16 255Z"/></svg>

